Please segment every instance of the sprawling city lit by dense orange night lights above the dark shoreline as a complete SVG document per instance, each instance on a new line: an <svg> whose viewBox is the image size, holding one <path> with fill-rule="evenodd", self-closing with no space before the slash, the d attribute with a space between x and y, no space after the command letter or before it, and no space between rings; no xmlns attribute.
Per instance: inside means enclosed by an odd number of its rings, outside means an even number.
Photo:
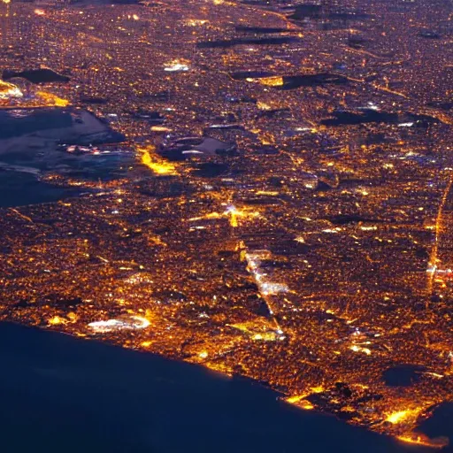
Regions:
<svg viewBox="0 0 453 453"><path fill-rule="evenodd" d="M0 105L124 139L47 135L40 180L82 194L2 210L1 318L443 445L414 430L453 395L450 4L101 3L0 5L3 69L70 78Z"/></svg>

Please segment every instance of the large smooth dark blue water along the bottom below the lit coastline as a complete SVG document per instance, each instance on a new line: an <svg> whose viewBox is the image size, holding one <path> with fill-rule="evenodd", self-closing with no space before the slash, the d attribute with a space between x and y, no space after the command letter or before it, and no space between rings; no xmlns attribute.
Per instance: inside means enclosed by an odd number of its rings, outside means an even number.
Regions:
<svg viewBox="0 0 453 453"><path fill-rule="evenodd" d="M299 411L248 380L0 324L5 453L403 453L392 439Z"/></svg>

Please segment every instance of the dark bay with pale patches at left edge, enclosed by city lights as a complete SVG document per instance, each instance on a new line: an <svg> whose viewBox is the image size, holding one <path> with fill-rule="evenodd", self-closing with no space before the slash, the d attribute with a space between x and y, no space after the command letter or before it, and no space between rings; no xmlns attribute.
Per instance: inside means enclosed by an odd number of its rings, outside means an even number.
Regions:
<svg viewBox="0 0 453 453"><path fill-rule="evenodd" d="M134 155L119 144L123 138L104 119L85 111L0 111L0 207L49 203L80 194L79 188L46 182L42 177L47 173L82 181L124 176ZM91 143L99 147L96 152L89 148ZM80 153L67 152L70 144L88 148Z"/></svg>

